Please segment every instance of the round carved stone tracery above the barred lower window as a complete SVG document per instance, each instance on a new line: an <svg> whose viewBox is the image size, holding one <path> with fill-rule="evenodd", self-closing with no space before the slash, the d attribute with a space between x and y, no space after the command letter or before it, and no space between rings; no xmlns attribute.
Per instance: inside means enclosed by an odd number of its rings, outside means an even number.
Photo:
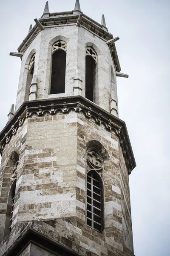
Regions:
<svg viewBox="0 0 170 256"><path fill-rule="evenodd" d="M103 160L100 154L95 148L89 148L87 151L87 163L88 171L95 170L97 172L102 172L103 170Z"/></svg>

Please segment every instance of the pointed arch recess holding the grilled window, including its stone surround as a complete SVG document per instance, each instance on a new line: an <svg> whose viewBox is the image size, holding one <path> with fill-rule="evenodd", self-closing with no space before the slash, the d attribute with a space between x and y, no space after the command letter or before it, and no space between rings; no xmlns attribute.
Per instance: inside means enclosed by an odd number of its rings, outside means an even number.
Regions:
<svg viewBox="0 0 170 256"><path fill-rule="evenodd" d="M104 223L104 169L110 156L99 141L86 145L86 224L102 233Z"/></svg>

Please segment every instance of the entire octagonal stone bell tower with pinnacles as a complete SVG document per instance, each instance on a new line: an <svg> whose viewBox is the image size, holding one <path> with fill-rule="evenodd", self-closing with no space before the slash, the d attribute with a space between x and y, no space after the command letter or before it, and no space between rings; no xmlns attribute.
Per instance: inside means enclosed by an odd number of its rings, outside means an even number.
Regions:
<svg viewBox="0 0 170 256"><path fill-rule="evenodd" d="M79 0L60 13L47 2L10 53L21 71L0 133L0 256L134 255L118 39Z"/></svg>

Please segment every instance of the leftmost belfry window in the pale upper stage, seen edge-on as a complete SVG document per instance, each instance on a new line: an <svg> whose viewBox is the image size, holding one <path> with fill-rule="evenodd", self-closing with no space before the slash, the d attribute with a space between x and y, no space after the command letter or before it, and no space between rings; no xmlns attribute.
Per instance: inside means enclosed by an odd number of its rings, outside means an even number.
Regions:
<svg viewBox="0 0 170 256"><path fill-rule="evenodd" d="M25 101L28 101L28 99L29 99L30 85L31 85L33 75L34 75L34 64L35 64L35 53L34 53L34 55L32 55L31 60L30 60L29 65L28 65Z"/></svg>

